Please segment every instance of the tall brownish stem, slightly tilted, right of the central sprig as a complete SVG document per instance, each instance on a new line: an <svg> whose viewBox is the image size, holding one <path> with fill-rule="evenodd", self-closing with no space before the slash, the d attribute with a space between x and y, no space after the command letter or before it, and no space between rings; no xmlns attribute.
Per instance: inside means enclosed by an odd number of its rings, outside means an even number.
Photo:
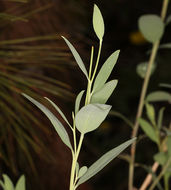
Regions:
<svg viewBox="0 0 171 190"><path fill-rule="evenodd" d="M168 2L169 2L168 0L163 0L163 6L162 6L162 11L161 11L161 19L163 21L166 16ZM151 51L151 55L150 55L150 59L148 62L148 67L147 67L147 72L146 72L142 90L141 90L135 124L132 131L132 138L136 137L138 133L138 129L139 129L138 119L141 117L142 112L143 112L144 100L145 100L145 96L146 96L146 92L147 92L147 88L148 88L148 84L150 80L150 75L151 75L151 68L152 68L152 65L154 64L159 44L160 44L160 41L156 41L152 46L152 51ZM130 160L130 165L129 165L129 182L128 182L129 190L133 190L135 152L136 152L136 142L133 142L133 144L131 145L131 160Z"/></svg>

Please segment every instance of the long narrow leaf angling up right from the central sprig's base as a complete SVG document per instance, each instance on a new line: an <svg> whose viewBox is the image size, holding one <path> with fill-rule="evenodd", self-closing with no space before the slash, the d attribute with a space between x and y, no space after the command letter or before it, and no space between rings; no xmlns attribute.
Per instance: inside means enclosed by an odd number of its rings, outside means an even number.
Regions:
<svg viewBox="0 0 171 190"><path fill-rule="evenodd" d="M117 146L116 148L108 151L100 159L98 159L94 164L92 164L87 172L79 179L77 186L84 183L94 175L96 175L100 170L102 170L109 162L111 162L115 157L117 157L125 148L135 141L136 138L128 140L123 144Z"/></svg>

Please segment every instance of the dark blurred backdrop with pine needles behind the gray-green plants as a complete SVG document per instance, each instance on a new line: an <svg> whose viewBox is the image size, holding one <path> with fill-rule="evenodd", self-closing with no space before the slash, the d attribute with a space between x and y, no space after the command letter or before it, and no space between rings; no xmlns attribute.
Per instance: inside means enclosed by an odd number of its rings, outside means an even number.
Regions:
<svg viewBox="0 0 171 190"><path fill-rule="evenodd" d="M20 93L44 104L42 97L48 96L70 118L75 94L85 88L85 82L60 35L88 63L90 45L97 47L91 25L94 3L106 26L101 63L116 49L121 49L121 55L112 76L119 84L109 102L115 117L111 114L97 132L87 136L81 156L87 165L130 137L131 128L123 117L134 122L142 84L136 66L148 59L151 48L138 31L137 20L142 14L159 14L162 0L0 0L0 169L14 181L25 173L28 189L67 189L70 155L44 115ZM162 43L171 42L170 33L168 25ZM161 89L159 83L171 83L170 51L159 51L149 92ZM168 105L166 110L167 122ZM150 157L146 146L146 142L138 146L138 161ZM153 152L153 145L150 148ZM127 169L127 163L117 159L80 189L93 189L93 185L99 190L126 189ZM137 173L136 180L144 175L143 170Z"/></svg>

